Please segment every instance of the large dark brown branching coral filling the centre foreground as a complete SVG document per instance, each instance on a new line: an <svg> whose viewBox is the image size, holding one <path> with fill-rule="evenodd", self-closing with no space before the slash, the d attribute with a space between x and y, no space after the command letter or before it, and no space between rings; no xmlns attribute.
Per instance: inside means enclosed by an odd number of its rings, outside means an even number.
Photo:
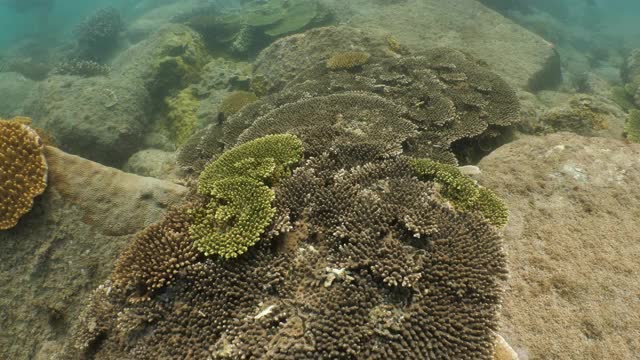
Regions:
<svg viewBox="0 0 640 360"><path fill-rule="evenodd" d="M238 257L162 270L170 283L151 271L163 286L144 301L105 283L76 349L96 359L492 359L506 273L499 235L442 203L405 158L371 155L336 146L281 178L272 226L288 231ZM228 177L246 165L217 184L251 187ZM171 269L166 241L153 239L134 243L146 249L138 261Z"/></svg>

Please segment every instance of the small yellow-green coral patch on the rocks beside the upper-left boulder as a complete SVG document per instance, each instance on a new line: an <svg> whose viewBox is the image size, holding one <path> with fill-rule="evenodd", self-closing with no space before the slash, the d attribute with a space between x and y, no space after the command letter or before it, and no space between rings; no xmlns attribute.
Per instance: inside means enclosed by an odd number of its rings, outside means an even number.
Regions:
<svg viewBox="0 0 640 360"><path fill-rule="evenodd" d="M176 146L181 146L191 136L196 126L198 100L190 88L180 91L173 97L165 98L167 106L167 126Z"/></svg>

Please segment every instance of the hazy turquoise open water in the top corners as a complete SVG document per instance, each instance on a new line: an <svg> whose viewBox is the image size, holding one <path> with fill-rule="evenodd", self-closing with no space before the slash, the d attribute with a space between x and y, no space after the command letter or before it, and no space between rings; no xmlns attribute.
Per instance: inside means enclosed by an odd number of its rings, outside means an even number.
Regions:
<svg viewBox="0 0 640 360"><path fill-rule="evenodd" d="M0 2L0 50L10 48L16 42L30 40L68 40L74 26L84 17L102 7L114 7L127 19L134 19L154 6L170 3L170 0L25 0L20 6L12 5L14 0ZM541 33L538 27L540 17L550 16L553 21L566 26L565 31L582 32L584 37L614 38L633 46L640 43L637 22L640 4L633 0L577 1L577 0L485 0L485 4L511 17L533 31ZM31 3L31 4L29 4ZM200 3L206 3L201 1ZM236 1L218 0L217 4L237 5ZM553 25L555 26L555 25ZM548 27L548 26L547 26ZM563 29L560 29L562 31ZM556 31L555 29L552 31ZM544 35L544 34L542 34ZM554 36L549 36L554 39Z"/></svg>

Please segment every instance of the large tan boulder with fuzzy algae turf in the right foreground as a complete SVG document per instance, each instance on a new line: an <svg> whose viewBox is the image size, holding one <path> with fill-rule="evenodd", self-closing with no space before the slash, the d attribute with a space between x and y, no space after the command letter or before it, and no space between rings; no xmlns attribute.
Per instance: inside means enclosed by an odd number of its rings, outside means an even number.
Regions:
<svg viewBox="0 0 640 360"><path fill-rule="evenodd" d="M500 333L522 359L632 359L640 341L640 145L557 133L479 163L510 209Z"/></svg>

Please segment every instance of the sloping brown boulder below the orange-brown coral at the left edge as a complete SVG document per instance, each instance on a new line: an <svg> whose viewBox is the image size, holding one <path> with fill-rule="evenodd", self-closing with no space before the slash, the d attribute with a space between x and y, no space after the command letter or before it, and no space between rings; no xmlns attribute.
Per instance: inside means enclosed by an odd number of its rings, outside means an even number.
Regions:
<svg viewBox="0 0 640 360"><path fill-rule="evenodd" d="M0 358L54 359L89 292L131 235L186 189L47 147L49 187L0 231Z"/></svg>

